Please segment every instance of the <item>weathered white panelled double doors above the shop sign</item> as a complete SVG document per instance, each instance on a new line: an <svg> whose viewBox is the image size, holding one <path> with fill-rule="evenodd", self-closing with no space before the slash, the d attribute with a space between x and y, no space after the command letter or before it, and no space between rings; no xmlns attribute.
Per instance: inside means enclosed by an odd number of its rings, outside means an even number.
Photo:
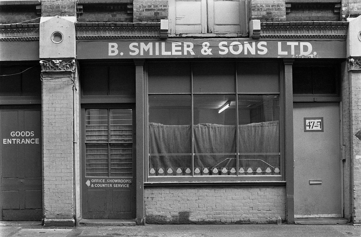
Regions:
<svg viewBox="0 0 361 237"><path fill-rule="evenodd" d="M245 0L170 0L170 33L246 33L245 9Z"/></svg>

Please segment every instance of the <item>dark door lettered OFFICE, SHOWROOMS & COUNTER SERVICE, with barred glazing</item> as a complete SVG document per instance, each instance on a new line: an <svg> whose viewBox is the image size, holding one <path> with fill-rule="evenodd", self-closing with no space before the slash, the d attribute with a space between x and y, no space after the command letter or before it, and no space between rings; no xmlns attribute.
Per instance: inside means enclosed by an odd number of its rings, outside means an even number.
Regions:
<svg viewBox="0 0 361 237"><path fill-rule="evenodd" d="M85 109L83 113L83 218L134 219L134 110Z"/></svg>

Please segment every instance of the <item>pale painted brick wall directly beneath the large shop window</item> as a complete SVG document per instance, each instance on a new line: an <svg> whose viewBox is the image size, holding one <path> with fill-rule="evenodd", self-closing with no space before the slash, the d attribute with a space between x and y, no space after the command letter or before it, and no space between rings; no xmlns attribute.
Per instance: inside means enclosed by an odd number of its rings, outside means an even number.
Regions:
<svg viewBox="0 0 361 237"><path fill-rule="evenodd" d="M278 215L285 220L286 189L149 187L144 189L144 205L146 223L275 223ZM178 221L178 212L189 212L189 220Z"/></svg>

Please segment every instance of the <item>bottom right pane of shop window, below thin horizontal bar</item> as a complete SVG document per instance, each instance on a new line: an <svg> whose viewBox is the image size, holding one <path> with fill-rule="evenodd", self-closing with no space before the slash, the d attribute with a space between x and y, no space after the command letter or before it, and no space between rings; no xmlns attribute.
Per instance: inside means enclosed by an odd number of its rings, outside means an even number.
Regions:
<svg viewBox="0 0 361 237"><path fill-rule="evenodd" d="M238 175L280 175L278 154L240 154Z"/></svg>

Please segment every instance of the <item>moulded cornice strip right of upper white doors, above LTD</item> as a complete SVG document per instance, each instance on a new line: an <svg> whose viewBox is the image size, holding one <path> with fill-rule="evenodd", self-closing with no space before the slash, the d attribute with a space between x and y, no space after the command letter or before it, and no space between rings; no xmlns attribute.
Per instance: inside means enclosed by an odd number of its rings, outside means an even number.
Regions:
<svg viewBox="0 0 361 237"><path fill-rule="evenodd" d="M261 37L277 39L346 39L348 22L261 22Z"/></svg>

